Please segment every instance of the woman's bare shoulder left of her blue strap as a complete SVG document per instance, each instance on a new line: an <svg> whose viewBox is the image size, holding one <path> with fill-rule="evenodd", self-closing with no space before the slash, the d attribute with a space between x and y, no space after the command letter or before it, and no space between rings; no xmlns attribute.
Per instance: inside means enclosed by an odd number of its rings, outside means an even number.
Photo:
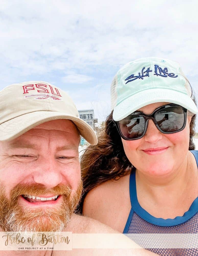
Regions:
<svg viewBox="0 0 198 256"><path fill-rule="evenodd" d="M122 232L131 210L129 178L130 174L91 189L83 203L83 215Z"/></svg>

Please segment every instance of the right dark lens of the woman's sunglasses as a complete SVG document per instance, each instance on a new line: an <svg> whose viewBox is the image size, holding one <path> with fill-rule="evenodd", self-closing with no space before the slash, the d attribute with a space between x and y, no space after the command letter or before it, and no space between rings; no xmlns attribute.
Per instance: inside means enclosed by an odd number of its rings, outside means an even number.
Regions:
<svg viewBox="0 0 198 256"><path fill-rule="evenodd" d="M155 114L155 120L164 132L176 132L183 127L184 112L180 106L170 106L159 110Z"/></svg>

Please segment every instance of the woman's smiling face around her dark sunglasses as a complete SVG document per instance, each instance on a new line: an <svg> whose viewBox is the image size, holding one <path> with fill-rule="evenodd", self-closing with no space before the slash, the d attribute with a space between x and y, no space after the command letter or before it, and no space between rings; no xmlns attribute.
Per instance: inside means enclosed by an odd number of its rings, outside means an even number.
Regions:
<svg viewBox="0 0 198 256"><path fill-rule="evenodd" d="M138 111L151 114L166 102L152 103ZM161 133L152 120L148 120L148 127L144 137L127 141L122 139L124 151L134 167L147 175L168 175L177 170L184 162L189 148L190 121L183 131L164 134Z"/></svg>

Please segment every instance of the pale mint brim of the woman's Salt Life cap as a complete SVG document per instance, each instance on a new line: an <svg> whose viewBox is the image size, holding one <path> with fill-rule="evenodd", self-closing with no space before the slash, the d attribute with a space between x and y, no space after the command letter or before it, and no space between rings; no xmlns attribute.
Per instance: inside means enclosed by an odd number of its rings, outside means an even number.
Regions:
<svg viewBox="0 0 198 256"><path fill-rule="evenodd" d="M113 110L113 120L120 121L134 111L156 102L169 102L183 106L192 113L198 112L189 95L169 89L148 89L138 92L120 102Z"/></svg>

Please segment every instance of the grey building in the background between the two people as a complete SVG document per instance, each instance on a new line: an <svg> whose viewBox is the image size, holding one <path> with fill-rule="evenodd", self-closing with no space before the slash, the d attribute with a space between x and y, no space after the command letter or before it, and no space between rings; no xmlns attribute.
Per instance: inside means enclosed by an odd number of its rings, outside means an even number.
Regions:
<svg viewBox="0 0 198 256"><path fill-rule="evenodd" d="M80 119L83 119L86 123L88 123L95 130L95 123L98 123L98 119L94 118L94 110L93 109L85 109L78 110ZM80 136L80 145L86 145L86 141L83 137Z"/></svg>

